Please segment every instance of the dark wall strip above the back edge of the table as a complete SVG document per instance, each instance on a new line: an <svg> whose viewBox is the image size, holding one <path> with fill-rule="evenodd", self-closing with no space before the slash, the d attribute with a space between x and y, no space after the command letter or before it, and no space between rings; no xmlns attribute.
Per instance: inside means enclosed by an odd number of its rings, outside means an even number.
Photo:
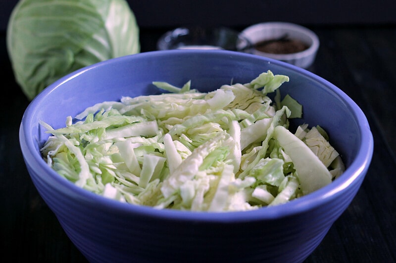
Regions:
<svg viewBox="0 0 396 263"><path fill-rule="evenodd" d="M141 28L185 24L247 27L265 21L304 25L396 23L395 0L128 0ZM0 0L5 30L17 0Z"/></svg>

